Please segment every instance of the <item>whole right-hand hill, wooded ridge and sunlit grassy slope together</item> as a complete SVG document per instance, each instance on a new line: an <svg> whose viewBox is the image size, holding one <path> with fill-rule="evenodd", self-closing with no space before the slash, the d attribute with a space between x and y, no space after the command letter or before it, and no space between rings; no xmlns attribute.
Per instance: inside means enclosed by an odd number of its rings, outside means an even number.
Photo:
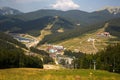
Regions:
<svg viewBox="0 0 120 80"><path fill-rule="evenodd" d="M100 37L98 34L108 32L110 37ZM88 39L95 39L92 41ZM50 43L62 45L68 50L81 51L84 53L96 53L104 49L107 45L120 41L120 18L99 23L85 28L80 27L63 33L54 33L43 38L40 44Z"/></svg>

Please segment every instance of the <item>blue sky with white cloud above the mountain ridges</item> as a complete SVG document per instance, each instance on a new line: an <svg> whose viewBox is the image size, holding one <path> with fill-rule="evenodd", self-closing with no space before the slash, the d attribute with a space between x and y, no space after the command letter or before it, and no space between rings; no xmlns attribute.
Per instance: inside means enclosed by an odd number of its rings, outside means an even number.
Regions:
<svg viewBox="0 0 120 80"><path fill-rule="evenodd" d="M22 12L40 9L92 12L108 6L120 6L120 0L0 0L0 7L11 7Z"/></svg>

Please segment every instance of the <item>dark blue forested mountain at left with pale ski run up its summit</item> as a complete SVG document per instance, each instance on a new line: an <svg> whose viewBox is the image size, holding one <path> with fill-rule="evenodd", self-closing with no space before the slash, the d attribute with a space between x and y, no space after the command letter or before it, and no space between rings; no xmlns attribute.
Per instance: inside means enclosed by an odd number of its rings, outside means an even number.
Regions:
<svg viewBox="0 0 120 80"><path fill-rule="evenodd" d="M29 33L34 36L39 36L40 31L48 25L52 25L52 32L60 31L60 29L73 29L75 26L72 22L59 16L45 16L31 21L22 21L16 18L0 16L0 24L0 31Z"/></svg>

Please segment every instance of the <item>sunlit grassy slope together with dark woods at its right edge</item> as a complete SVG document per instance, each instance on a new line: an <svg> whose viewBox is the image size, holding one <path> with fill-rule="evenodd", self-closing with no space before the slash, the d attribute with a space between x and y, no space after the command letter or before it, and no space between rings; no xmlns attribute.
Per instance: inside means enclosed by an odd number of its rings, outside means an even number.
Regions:
<svg viewBox="0 0 120 80"><path fill-rule="evenodd" d="M105 23L104 26L100 29L89 31L86 34L83 34L79 37L63 40L57 42L56 44L62 45L68 50L72 50L72 51L81 51L84 53L96 53L97 51L104 49L109 44L119 42L119 38L120 38L119 20L120 19L118 20L115 19L110 22L108 21L108 23ZM98 36L99 33L104 33L104 32L109 32L111 36L110 37ZM95 39L94 45L92 41L88 42L89 38Z"/></svg>

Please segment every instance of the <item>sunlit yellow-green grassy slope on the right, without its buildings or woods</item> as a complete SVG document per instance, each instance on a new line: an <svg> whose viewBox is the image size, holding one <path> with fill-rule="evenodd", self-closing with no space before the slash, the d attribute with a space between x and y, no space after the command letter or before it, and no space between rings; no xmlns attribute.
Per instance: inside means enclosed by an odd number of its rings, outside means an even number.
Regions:
<svg viewBox="0 0 120 80"><path fill-rule="evenodd" d="M84 53L96 53L97 51L104 49L109 43L110 38L103 38L103 37L97 37L97 33L104 32L106 27L108 27L109 23L106 23L103 28L98 29L96 31L89 32L88 34L84 34L80 37L76 37L73 39L69 39L66 41L62 41L57 43L58 45L63 45L65 48L70 50L79 50ZM95 50L92 42L88 42L88 38L94 38L95 46L98 50ZM111 36L111 39L114 40L115 37Z"/></svg>

